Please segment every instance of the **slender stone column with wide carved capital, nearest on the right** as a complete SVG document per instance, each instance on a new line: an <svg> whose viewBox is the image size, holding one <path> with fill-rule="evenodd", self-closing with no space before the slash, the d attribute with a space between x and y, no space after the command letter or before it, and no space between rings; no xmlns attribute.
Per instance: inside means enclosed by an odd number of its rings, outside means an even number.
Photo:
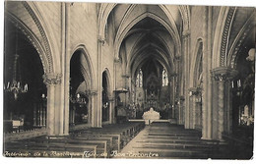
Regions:
<svg viewBox="0 0 256 164"><path fill-rule="evenodd" d="M225 82L228 82L229 79L233 78L233 71L227 67L219 67L212 70L212 74L214 80L218 82L218 139L223 141L223 133L224 133L224 109L226 105L224 104L224 86Z"/></svg>

